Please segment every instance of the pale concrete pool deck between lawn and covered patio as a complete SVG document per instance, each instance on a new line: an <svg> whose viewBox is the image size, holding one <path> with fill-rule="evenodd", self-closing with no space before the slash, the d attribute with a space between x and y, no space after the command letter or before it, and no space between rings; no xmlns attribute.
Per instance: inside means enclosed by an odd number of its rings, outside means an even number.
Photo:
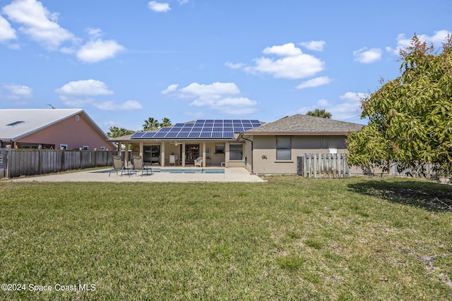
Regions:
<svg viewBox="0 0 452 301"><path fill-rule="evenodd" d="M166 168L165 169L169 169ZM180 168L176 168L180 169ZM208 168L204 168L208 169ZM219 169L219 168L214 168ZM53 173L42 176L30 176L23 178L5 179L2 181L11 182L265 182L256 175L251 175L249 171L242 167L225 168L225 173L167 173L157 172L141 176L141 172L131 176L112 171L108 176L110 168L97 169L90 171L76 171L71 173Z"/></svg>

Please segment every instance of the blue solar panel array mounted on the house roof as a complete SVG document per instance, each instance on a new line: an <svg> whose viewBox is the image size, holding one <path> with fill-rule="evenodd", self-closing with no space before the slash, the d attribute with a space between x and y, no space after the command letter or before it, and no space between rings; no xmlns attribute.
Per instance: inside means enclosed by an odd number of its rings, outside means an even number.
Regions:
<svg viewBox="0 0 452 301"><path fill-rule="evenodd" d="M261 126L261 122L254 119L200 119L195 123L176 123L172 127L160 128L157 132L137 132L131 138L233 138L234 133L258 126Z"/></svg>

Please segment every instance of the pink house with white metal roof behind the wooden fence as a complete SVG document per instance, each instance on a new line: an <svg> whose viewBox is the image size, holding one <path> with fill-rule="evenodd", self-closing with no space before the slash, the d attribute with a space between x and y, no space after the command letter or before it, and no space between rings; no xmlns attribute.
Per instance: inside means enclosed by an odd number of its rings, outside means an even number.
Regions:
<svg viewBox="0 0 452 301"><path fill-rule="evenodd" d="M82 109L0 109L0 148L114 149Z"/></svg>

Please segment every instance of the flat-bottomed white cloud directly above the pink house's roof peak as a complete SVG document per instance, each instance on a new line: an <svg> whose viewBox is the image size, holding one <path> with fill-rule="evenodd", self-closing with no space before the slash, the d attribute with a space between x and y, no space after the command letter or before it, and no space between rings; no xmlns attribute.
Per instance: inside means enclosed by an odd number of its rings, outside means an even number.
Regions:
<svg viewBox="0 0 452 301"><path fill-rule="evenodd" d="M65 96L94 96L110 95L112 91L108 90L105 82L100 80L78 80L69 82L63 87L55 90L58 94Z"/></svg>

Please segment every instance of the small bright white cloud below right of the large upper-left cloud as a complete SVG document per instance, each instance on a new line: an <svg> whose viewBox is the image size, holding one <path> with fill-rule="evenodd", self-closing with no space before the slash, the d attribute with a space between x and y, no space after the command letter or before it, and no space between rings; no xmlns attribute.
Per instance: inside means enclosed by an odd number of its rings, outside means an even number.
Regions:
<svg viewBox="0 0 452 301"><path fill-rule="evenodd" d="M77 58L84 63L97 63L106 59L112 59L124 50L125 47L114 40L102 41L101 39L97 39L83 45L77 51Z"/></svg>

